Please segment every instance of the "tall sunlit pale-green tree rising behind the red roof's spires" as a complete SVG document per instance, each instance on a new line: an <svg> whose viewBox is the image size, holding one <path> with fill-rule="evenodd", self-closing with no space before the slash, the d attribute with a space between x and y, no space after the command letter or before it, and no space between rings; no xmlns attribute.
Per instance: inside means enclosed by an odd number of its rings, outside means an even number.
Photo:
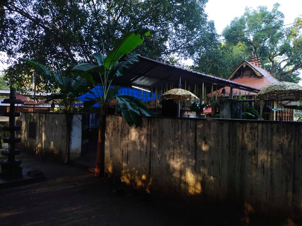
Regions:
<svg viewBox="0 0 302 226"><path fill-rule="evenodd" d="M277 78L298 82L302 68L302 18L296 18L296 23L291 26L283 26L284 15L278 11L279 6L274 4L272 11L265 6L259 6L257 10L246 8L222 35L227 45L236 46L239 42L246 45L247 58L253 51L260 57L263 67ZM243 35L247 33L250 34Z"/></svg>

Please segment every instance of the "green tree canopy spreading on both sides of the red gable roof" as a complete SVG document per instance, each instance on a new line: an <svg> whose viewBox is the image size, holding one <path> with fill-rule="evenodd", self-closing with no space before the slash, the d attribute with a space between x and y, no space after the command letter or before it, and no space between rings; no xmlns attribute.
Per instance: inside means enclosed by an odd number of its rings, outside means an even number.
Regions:
<svg viewBox="0 0 302 226"><path fill-rule="evenodd" d="M271 11L265 6L246 8L223 30L225 40L217 41L210 51L196 58L195 68L226 78L243 59L249 60L253 51L263 67L278 79L298 82L302 68L302 18L295 19L299 23L283 26L284 15L278 7L276 3ZM211 64L213 61L216 63Z"/></svg>

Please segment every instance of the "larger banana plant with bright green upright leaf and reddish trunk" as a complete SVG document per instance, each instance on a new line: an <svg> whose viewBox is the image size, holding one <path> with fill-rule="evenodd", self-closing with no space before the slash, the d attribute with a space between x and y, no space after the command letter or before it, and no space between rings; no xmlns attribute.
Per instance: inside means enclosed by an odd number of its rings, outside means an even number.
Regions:
<svg viewBox="0 0 302 226"><path fill-rule="evenodd" d="M150 31L143 28L127 32L121 39L115 42L112 50L108 51L107 56L104 54L104 48L103 53L98 52L92 55L97 60L98 65L84 63L70 68L71 72L77 72L79 76L85 78L98 92L98 95L94 95L94 98L89 98L84 103L91 105L98 103L100 108L101 117L98 131L95 176L101 176L104 173L105 112L109 100L118 100L122 116L129 126L135 125L137 127L142 122L141 116L152 115L151 111L140 100L131 96L117 96L120 87L112 86L112 81L115 77L122 76L133 63L139 61L139 55L131 53L131 51L142 44L143 37L149 34ZM100 91L96 88L96 81L102 87Z"/></svg>

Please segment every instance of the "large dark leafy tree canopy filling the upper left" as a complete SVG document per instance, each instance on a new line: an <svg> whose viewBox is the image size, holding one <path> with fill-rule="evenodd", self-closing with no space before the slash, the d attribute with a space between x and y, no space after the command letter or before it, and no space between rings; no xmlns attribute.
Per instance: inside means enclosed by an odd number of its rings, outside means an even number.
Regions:
<svg viewBox="0 0 302 226"><path fill-rule="evenodd" d="M215 34L204 12L207 0L5 0L0 6L0 51L9 61L20 54L44 65L62 67L81 62L96 63L91 52L112 48L129 30L148 27L148 40L137 53L153 59L168 59L171 53L190 57ZM22 24L22 25L21 25ZM7 35L8 34L8 35ZM168 45L167 45L168 44ZM198 48L196 48L198 47ZM8 70L6 79L18 84L29 73L21 64ZM14 74L13 74L14 73ZM22 75L15 77L15 75ZM38 73L41 88L53 91Z"/></svg>

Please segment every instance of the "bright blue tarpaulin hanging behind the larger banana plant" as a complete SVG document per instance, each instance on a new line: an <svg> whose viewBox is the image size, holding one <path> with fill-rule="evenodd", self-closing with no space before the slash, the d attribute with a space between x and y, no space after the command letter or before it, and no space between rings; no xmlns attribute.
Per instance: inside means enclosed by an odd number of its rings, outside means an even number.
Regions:
<svg viewBox="0 0 302 226"><path fill-rule="evenodd" d="M101 96L103 96L103 88L102 86L96 86L96 88L98 89L98 92L101 94ZM113 88L113 87L111 87ZM95 88L90 90L96 97L99 96L97 90ZM86 94L83 94L79 97L77 97L77 99L81 100L81 101L88 101L90 99L87 98L95 98L95 96L87 92ZM139 99L140 101L142 101L143 103L147 102L147 101L151 101L151 92L147 92L147 91L143 91L141 89L135 89L132 87L121 87L118 91L118 95L128 95L128 96L133 96L137 99ZM152 94L152 99L156 100L156 96L155 96L155 91L153 91ZM77 105L77 104L76 104ZM83 104L82 104L83 105ZM99 107L98 104L93 105L93 107Z"/></svg>

